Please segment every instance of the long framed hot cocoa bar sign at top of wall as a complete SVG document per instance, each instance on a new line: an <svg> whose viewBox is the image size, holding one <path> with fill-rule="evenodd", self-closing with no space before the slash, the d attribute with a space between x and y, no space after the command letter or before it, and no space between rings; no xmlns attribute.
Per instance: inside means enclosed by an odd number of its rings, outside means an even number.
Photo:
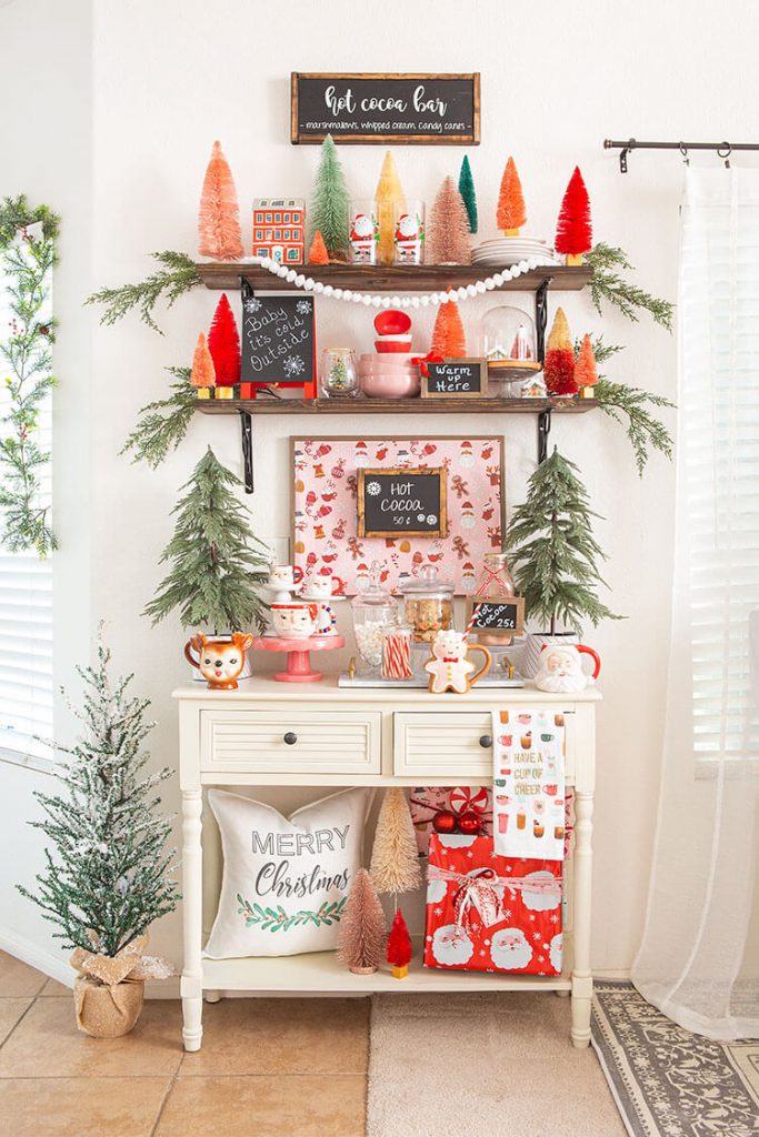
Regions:
<svg viewBox="0 0 759 1137"><path fill-rule="evenodd" d="M410 142L478 146L479 73L291 75L294 144Z"/></svg>

